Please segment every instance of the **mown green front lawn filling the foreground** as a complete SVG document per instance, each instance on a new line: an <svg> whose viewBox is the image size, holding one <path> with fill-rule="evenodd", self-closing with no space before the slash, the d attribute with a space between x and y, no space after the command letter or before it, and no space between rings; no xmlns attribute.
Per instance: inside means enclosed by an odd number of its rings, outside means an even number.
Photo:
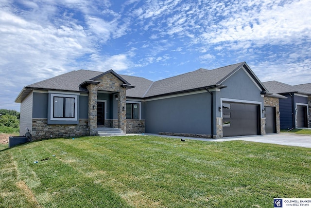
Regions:
<svg viewBox="0 0 311 208"><path fill-rule="evenodd" d="M246 141L51 139L0 151L0 167L5 208L267 208L311 196L311 149Z"/></svg>

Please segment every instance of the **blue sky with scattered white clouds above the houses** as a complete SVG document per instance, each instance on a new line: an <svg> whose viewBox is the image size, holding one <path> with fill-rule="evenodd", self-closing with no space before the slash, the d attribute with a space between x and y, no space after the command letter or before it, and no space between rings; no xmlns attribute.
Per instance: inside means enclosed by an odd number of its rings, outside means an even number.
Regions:
<svg viewBox="0 0 311 208"><path fill-rule="evenodd" d="M311 0L0 0L0 109L73 70L153 81L245 61L311 82Z"/></svg>

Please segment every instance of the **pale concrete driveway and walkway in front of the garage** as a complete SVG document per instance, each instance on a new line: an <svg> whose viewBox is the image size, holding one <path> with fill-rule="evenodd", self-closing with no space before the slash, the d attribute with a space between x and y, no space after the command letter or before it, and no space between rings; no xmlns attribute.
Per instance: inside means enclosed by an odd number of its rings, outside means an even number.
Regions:
<svg viewBox="0 0 311 208"><path fill-rule="evenodd" d="M213 142L224 142L232 140L243 140L250 142L261 142L261 143L271 143L287 146L297 146L311 148L311 135L302 135L294 133L273 133L266 135L255 135L255 136L235 136L235 137L225 137L222 139L202 139L202 138L192 138L192 137L182 137L182 136L167 136L152 133L145 133L145 135L163 136L163 137L173 137L180 139L191 139L191 140L201 140L201 141L213 141Z"/></svg>

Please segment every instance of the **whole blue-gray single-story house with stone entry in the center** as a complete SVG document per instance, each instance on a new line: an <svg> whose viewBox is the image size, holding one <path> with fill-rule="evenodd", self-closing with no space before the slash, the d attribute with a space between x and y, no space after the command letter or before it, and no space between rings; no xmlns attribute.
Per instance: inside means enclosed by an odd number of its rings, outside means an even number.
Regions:
<svg viewBox="0 0 311 208"><path fill-rule="evenodd" d="M279 132L278 98L242 62L155 82L72 71L24 87L16 102L20 134L28 127L33 139L95 135L101 126L221 138Z"/></svg>

